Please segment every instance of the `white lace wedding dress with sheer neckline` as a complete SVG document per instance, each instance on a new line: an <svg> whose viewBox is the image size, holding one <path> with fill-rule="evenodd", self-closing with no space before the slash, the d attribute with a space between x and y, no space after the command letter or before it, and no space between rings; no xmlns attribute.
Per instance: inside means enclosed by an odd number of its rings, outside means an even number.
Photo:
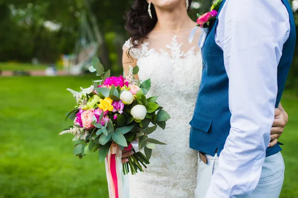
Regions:
<svg viewBox="0 0 298 198"><path fill-rule="evenodd" d="M199 91L202 57L197 46L200 32L192 44L191 30L151 32L138 49L131 51L140 67L139 78L151 79L149 95L159 96L171 119L166 129L150 134L167 145L152 151L145 173L129 176L130 198L194 198L198 157L189 148L189 122ZM130 48L130 41L124 50Z"/></svg>

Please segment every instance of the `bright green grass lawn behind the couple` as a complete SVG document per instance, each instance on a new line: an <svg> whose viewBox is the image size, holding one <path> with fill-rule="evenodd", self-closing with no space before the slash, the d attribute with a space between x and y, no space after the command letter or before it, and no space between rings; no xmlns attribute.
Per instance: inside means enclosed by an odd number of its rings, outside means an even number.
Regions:
<svg viewBox="0 0 298 198"><path fill-rule="evenodd" d="M79 160L72 135L58 133L74 98L66 88L90 76L0 77L0 198L108 198L104 164L96 153ZM286 178L281 198L298 197L298 98L282 101L289 124L281 141Z"/></svg>

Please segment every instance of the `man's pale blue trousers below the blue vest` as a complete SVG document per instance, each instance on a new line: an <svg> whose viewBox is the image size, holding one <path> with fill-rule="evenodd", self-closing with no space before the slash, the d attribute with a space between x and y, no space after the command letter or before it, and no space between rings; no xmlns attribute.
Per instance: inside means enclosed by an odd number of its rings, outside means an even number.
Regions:
<svg viewBox="0 0 298 198"><path fill-rule="evenodd" d="M206 155L208 164L199 160L196 198L205 198L213 173L217 170L219 158ZM285 163L281 152L266 157L262 167L261 178L256 189L243 198L279 198L282 191Z"/></svg>

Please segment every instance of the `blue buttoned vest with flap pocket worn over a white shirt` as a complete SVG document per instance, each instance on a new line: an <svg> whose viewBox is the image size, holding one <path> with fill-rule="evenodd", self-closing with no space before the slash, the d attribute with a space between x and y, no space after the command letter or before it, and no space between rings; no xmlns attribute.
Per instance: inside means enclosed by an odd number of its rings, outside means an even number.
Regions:
<svg viewBox="0 0 298 198"><path fill-rule="evenodd" d="M276 107L280 103L286 79L292 64L296 43L296 26L291 5L288 0L282 0L290 15L290 37L283 47L283 55L278 65L278 94ZM225 0L223 0L221 11ZM228 77L224 67L223 50L215 42L215 31L218 19L210 23L203 56L202 83L193 119L190 122L190 147L201 152L218 156L224 148L226 137L230 131L231 113L228 106ZM266 156L281 151L279 144L266 150Z"/></svg>

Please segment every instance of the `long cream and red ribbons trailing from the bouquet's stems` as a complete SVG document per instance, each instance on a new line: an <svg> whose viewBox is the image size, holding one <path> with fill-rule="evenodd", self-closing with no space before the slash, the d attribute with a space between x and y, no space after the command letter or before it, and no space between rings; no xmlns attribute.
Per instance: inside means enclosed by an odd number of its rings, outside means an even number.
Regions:
<svg viewBox="0 0 298 198"><path fill-rule="evenodd" d="M123 198L121 157L122 149L113 143L105 159L110 198Z"/></svg>

